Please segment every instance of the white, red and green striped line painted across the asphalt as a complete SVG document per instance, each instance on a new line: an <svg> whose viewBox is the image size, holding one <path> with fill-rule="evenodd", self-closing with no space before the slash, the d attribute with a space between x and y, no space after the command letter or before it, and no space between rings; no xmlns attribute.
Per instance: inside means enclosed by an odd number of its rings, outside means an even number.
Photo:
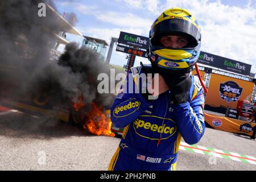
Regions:
<svg viewBox="0 0 256 182"><path fill-rule="evenodd" d="M238 162L245 162L245 163L256 165L256 158L254 156L240 155L235 152L226 152L226 151L218 150L216 148L197 146L195 144L189 145L187 143L180 142L179 149L189 151L189 152L194 152L197 154L206 154L206 155L216 156L218 158L230 159Z"/></svg>

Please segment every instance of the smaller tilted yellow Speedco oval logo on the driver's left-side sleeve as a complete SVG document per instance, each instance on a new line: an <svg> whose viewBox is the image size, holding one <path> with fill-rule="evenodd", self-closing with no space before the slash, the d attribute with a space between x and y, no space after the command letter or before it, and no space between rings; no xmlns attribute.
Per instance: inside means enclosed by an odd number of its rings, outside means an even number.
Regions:
<svg viewBox="0 0 256 182"><path fill-rule="evenodd" d="M141 102L136 101L135 99L127 100L119 104L119 106L115 107L115 109L113 110L113 115L114 117L125 117L134 113L135 110L139 109L140 105Z"/></svg>

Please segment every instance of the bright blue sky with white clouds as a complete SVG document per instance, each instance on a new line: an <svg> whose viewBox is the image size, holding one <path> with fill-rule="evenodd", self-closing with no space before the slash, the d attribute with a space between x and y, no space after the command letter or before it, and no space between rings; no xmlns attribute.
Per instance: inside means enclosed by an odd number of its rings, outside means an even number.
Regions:
<svg viewBox="0 0 256 182"><path fill-rule="evenodd" d="M75 13L83 35L106 40L119 32L148 36L152 22L166 9L191 11L202 30L201 51L253 65L256 72L256 0L53 0L63 14ZM79 36L70 40L82 42ZM115 50L115 48L114 48ZM107 55L108 52L106 52ZM105 56L106 56L105 55ZM123 66L125 53L113 51L110 64ZM138 57L135 65L149 63Z"/></svg>

